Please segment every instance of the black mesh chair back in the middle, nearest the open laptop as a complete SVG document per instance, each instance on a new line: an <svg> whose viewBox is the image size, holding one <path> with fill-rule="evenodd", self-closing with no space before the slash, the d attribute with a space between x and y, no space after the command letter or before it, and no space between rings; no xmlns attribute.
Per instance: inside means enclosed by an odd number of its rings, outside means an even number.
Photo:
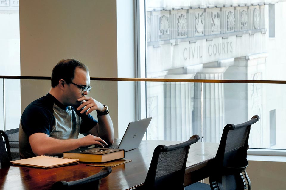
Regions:
<svg viewBox="0 0 286 190"><path fill-rule="evenodd" d="M193 135L184 143L157 146L144 182L144 189L184 189L189 148L199 139L198 135Z"/></svg>

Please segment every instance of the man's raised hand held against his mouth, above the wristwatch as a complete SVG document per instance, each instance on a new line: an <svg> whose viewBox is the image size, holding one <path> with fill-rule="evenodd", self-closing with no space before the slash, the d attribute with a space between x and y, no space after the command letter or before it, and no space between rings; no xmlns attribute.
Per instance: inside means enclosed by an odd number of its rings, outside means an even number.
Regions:
<svg viewBox="0 0 286 190"><path fill-rule="evenodd" d="M77 110L80 110L84 107L80 113L84 113L86 110L89 109L86 112L86 115L88 115L94 110L99 111L99 112L103 112L105 110L104 106L100 102L88 96L81 97L77 99L77 101L82 102L82 104L77 108Z"/></svg>

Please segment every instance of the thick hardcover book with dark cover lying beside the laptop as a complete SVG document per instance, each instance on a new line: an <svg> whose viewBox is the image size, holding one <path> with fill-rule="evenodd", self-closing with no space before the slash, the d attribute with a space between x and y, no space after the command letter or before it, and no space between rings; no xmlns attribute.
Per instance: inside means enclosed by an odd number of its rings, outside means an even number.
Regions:
<svg viewBox="0 0 286 190"><path fill-rule="evenodd" d="M125 157L124 149L78 148L63 153L65 158L76 158L80 162L108 162Z"/></svg>

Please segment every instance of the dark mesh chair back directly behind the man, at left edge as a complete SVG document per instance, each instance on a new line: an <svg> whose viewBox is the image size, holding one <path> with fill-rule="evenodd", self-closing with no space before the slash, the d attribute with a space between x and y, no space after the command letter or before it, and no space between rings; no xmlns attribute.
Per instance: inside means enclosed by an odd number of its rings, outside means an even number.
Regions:
<svg viewBox="0 0 286 190"><path fill-rule="evenodd" d="M4 137L5 145L9 160L20 159L19 153L19 128L10 129L6 131L0 131L2 137Z"/></svg>

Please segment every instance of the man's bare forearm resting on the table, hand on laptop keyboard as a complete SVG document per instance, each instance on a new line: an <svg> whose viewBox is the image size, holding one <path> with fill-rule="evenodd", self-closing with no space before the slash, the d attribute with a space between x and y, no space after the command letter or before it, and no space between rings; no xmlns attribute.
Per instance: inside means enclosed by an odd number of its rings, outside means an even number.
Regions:
<svg viewBox="0 0 286 190"><path fill-rule="evenodd" d="M61 154L66 151L91 145L107 145L107 143L100 137L96 137L91 134L80 139L60 140L49 137L49 135L45 133L34 133L29 137L29 143L31 145L33 153L36 156L42 154Z"/></svg>

